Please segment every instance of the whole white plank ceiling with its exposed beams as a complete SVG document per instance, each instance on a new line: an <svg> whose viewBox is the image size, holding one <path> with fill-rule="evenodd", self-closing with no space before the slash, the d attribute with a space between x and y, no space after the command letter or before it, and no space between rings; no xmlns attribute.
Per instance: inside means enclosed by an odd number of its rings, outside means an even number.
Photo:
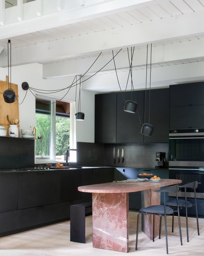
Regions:
<svg viewBox="0 0 204 256"><path fill-rule="evenodd" d="M0 26L0 67L7 67L8 39L12 65L40 63L46 79L84 74L102 52L85 79L100 71L82 88L118 91L113 61L102 67L111 60L112 51L122 49L115 61L125 90L127 47L130 52L134 47L133 82L141 89L146 47L152 43L153 87L204 81L204 0L63 0L61 12L59 2L24 4L22 22L17 21L17 6L6 9L5 25ZM36 15L39 3L41 17Z"/></svg>

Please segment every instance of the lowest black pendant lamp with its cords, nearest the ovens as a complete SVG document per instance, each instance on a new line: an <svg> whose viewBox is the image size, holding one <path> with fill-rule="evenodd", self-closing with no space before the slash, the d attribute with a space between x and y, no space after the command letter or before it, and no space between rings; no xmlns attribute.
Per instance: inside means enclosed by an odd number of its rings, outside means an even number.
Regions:
<svg viewBox="0 0 204 256"><path fill-rule="evenodd" d="M147 44L147 60L148 60L148 44ZM151 70L152 70L152 44L150 52L150 90L151 90ZM145 102L144 102L144 122L145 122L145 109L146 109L146 95L147 95L147 63L146 63L146 88L145 88ZM141 134L145 136L151 136L154 127L150 124L150 97L149 97L149 123L144 123L142 125Z"/></svg>

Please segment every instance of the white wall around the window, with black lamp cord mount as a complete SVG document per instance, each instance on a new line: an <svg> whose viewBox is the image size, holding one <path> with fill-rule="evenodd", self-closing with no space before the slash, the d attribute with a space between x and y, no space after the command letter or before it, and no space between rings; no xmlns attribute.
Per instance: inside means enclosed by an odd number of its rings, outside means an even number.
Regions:
<svg viewBox="0 0 204 256"><path fill-rule="evenodd" d="M0 80L6 81L8 75L7 68L0 68ZM18 84L19 102L21 103L26 91L21 87L21 84L26 81L30 87L56 90L68 87L74 77L64 77L57 79L42 79L42 65L28 64L11 68L11 83ZM83 85L82 85L83 88ZM49 96L62 97L66 90L59 93L48 94ZM75 100L75 87L72 88L65 99ZM77 141L78 142L94 142L94 93L81 90L81 111L85 113L85 120L76 122L77 125ZM28 90L26 99L19 105L20 129L29 129L34 127L35 116L35 98Z"/></svg>

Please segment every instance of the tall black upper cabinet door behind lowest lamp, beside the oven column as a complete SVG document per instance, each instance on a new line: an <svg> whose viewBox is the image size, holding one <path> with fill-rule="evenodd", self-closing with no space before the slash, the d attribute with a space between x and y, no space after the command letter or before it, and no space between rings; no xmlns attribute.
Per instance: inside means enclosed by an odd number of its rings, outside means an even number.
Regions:
<svg viewBox="0 0 204 256"><path fill-rule="evenodd" d="M144 143L169 142L169 88L147 90L145 121L149 122L150 95L150 124L154 126L151 136L144 136Z"/></svg>

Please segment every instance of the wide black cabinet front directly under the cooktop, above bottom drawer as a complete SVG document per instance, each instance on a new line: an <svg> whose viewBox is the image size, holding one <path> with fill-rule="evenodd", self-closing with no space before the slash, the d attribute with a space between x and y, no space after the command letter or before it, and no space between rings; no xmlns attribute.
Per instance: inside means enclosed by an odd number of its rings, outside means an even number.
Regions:
<svg viewBox="0 0 204 256"><path fill-rule="evenodd" d="M39 171L19 174L19 209L59 202L60 172Z"/></svg>

